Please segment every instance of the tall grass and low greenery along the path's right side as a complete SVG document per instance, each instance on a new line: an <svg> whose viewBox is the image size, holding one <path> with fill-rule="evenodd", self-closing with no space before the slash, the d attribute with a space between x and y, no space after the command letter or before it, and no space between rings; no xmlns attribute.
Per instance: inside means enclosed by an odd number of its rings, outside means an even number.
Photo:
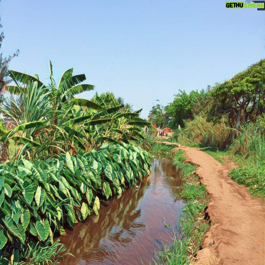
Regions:
<svg viewBox="0 0 265 265"><path fill-rule="evenodd" d="M231 135L232 129L223 122L213 125L196 116L186 123L178 140L189 146L213 147L204 151L222 164L224 156L233 158L240 167L229 171L231 178L249 187L252 195L265 199L265 117L259 116L256 122L241 126L237 138L232 138L227 147ZM220 151L225 147L225 151Z"/></svg>

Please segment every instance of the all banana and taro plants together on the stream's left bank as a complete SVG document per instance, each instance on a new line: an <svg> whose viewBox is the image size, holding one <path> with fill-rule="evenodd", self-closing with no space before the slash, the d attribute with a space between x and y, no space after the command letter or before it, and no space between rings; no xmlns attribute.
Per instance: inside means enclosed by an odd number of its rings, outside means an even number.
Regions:
<svg viewBox="0 0 265 265"><path fill-rule="evenodd" d="M55 234L150 174L147 152L132 144L145 140L149 124L112 93L75 98L94 86L73 69L58 85L51 62L49 85L37 75L10 76L16 85L5 86L12 97L0 108L13 121L11 129L0 121L0 263L44 264L63 250Z"/></svg>

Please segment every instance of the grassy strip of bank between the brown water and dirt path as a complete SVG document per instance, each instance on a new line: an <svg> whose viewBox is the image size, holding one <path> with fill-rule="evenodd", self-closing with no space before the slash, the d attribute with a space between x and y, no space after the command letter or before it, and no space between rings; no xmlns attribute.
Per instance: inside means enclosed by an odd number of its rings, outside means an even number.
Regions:
<svg viewBox="0 0 265 265"><path fill-rule="evenodd" d="M156 253L153 259L155 265L184 265L195 262L196 252L202 249L205 234L213 224L207 211L209 194L195 173L198 165L187 160L181 148L173 148L170 152L174 155L173 165L176 166L176 171L186 179L181 198L187 203L183 208L184 214L179 219L182 238L177 239L175 236L172 245L166 245L162 251Z"/></svg>

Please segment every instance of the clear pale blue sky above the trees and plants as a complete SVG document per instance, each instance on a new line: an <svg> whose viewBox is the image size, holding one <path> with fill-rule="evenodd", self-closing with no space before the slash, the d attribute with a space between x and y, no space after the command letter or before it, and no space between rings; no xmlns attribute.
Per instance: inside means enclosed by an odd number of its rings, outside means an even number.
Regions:
<svg viewBox="0 0 265 265"><path fill-rule="evenodd" d="M56 80L73 67L146 118L156 99L167 105L264 58L265 11L226 1L2 0L2 52L19 49L10 68L41 80L49 59Z"/></svg>

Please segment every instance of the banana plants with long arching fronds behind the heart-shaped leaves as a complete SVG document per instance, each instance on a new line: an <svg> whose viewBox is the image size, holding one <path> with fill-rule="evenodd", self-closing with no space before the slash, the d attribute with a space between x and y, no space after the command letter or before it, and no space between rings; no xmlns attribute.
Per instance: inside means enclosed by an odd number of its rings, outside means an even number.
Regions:
<svg viewBox="0 0 265 265"><path fill-rule="evenodd" d="M129 112L112 93L97 94L92 100L74 98L74 95L94 89L93 85L80 85L84 74L73 75L65 71L58 83L52 77L45 85L38 76L10 71L16 86L6 89L19 95L19 100L8 98L0 110L17 125L6 130L0 125L2 161L10 158L8 145L15 142L15 159L24 156L37 160L58 157L60 153L91 151L104 142L129 143L144 140L139 126L148 122L139 118L141 110ZM149 125L149 124L148 124Z"/></svg>

